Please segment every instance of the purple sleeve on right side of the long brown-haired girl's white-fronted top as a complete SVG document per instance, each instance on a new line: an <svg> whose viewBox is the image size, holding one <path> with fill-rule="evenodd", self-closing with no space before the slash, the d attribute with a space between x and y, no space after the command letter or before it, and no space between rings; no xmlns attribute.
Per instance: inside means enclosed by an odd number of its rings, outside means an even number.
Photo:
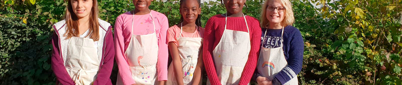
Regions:
<svg viewBox="0 0 402 85"><path fill-rule="evenodd" d="M112 26L109 26L105 35L105 41L103 41L103 60L101 60L103 61L103 64L100 66L94 85L112 85L110 75L112 73L113 61L115 59L115 47L111 28Z"/></svg>

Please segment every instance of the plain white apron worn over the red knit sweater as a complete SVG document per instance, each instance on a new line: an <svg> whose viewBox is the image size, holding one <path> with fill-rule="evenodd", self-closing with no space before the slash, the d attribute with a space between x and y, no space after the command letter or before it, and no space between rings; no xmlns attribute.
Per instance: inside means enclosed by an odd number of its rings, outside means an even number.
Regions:
<svg viewBox="0 0 402 85"><path fill-rule="evenodd" d="M225 18L225 30L218 45L213 50L213 61L216 73L222 85L236 85L240 82L240 77L250 53L250 34L246 17L247 32L228 30L226 24L228 17ZM209 80L209 79L208 79ZM207 85L210 82L207 81ZM250 83L249 83L250 84Z"/></svg>

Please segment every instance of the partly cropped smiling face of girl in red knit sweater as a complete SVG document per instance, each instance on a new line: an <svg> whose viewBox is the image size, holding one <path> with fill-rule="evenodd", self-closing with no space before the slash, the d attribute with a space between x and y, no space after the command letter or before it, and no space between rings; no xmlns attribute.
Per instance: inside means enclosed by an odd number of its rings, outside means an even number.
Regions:
<svg viewBox="0 0 402 85"><path fill-rule="evenodd" d="M236 14L242 12L246 0L222 0L228 12Z"/></svg>

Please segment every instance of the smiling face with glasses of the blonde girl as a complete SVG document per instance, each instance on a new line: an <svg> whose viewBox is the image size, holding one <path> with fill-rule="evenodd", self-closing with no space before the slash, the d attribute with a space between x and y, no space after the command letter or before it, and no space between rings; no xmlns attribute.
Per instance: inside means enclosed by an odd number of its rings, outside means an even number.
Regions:
<svg viewBox="0 0 402 85"><path fill-rule="evenodd" d="M281 7L278 7L281 6ZM278 24L282 22L285 12L285 8L280 0L269 0L267 4L267 14L266 17L269 24ZM273 9L273 10L272 10ZM282 12L281 12L282 11Z"/></svg>

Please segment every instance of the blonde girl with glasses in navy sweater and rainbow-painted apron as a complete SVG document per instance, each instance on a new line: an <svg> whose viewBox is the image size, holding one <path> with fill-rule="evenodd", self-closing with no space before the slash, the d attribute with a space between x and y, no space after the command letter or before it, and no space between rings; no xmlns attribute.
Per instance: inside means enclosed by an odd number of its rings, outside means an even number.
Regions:
<svg viewBox="0 0 402 85"><path fill-rule="evenodd" d="M297 85L304 41L294 22L289 0L265 0L260 25L260 57L252 79L259 85Z"/></svg>

